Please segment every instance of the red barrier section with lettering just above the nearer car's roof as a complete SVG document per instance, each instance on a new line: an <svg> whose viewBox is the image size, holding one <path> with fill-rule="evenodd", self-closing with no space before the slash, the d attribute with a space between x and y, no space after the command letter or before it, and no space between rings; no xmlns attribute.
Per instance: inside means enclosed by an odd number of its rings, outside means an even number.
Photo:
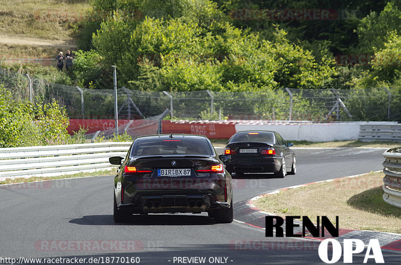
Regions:
<svg viewBox="0 0 401 265"><path fill-rule="evenodd" d="M205 135L211 139L228 139L236 133L233 121L162 121L163 133Z"/></svg>

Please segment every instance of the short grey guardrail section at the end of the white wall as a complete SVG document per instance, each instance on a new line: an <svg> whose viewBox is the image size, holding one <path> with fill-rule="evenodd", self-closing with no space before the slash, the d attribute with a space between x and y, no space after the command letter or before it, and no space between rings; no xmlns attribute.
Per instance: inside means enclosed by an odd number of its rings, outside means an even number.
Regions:
<svg viewBox="0 0 401 265"><path fill-rule="evenodd" d="M401 141L401 124L391 124L391 125L361 124L359 126L359 140Z"/></svg>

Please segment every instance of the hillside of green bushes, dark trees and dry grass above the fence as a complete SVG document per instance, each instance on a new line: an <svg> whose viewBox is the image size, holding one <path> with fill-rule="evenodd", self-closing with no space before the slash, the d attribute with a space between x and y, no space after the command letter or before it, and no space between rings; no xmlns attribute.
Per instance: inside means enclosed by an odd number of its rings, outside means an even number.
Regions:
<svg viewBox="0 0 401 265"><path fill-rule="evenodd" d="M3 56L54 57L70 45L75 67L67 79L58 78L65 84L109 88L111 65L117 66L119 87L140 90L363 89L401 83L400 0L3 2L0 35L48 42L9 41ZM300 12L298 19L294 15Z"/></svg>

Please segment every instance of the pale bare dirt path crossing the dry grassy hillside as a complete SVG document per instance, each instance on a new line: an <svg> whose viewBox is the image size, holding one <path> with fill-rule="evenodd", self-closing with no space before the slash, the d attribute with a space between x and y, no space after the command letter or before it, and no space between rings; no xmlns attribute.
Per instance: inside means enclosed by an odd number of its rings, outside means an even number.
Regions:
<svg viewBox="0 0 401 265"><path fill-rule="evenodd" d="M32 38L32 37L20 37L20 36L7 36L0 35L0 44L11 44L11 45L33 45L33 46L53 46L53 47L76 47L75 44L69 43L69 40L60 39L43 39L43 38Z"/></svg>

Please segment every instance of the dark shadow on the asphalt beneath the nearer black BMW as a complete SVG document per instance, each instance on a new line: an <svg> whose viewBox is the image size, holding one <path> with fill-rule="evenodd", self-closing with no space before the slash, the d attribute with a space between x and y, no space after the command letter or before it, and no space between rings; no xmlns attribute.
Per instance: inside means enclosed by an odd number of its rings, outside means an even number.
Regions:
<svg viewBox="0 0 401 265"><path fill-rule="evenodd" d="M207 215L184 214L134 214L128 222L116 223L112 214L86 215L70 223L83 225L206 225L215 224L215 219Z"/></svg>

